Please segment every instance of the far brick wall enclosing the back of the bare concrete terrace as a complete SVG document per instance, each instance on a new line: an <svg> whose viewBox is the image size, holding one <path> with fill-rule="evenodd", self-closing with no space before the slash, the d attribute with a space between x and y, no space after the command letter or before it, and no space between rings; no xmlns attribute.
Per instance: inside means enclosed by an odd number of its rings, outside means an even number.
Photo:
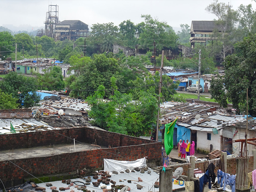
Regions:
<svg viewBox="0 0 256 192"><path fill-rule="evenodd" d="M108 147L108 145L111 147L122 147L156 142L94 128L78 127L54 131L3 134L0 135L0 150L66 144L71 143L73 139L91 144L96 140L98 145L105 147Z"/></svg>

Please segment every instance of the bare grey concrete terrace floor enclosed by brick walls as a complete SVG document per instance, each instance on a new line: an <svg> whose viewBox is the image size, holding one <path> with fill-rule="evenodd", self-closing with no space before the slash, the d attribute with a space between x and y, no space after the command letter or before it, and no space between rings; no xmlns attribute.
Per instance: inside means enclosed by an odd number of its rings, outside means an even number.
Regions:
<svg viewBox="0 0 256 192"><path fill-rule="evenodd" d="M75 151L76 147L76 151ZM60 145L49 145L43 147L34 148L21 148L21 149L9 149L2 151L0 153L0 161L12 160L12 159L23 159L23 158L33 158L33 157L46 157L53 155L60 155L64 153L72 153L93 149L106 148L103 146L93 146L90 143L70 143L70 144L60 144ZM4 154L5 153L5 154Z"/></svg>

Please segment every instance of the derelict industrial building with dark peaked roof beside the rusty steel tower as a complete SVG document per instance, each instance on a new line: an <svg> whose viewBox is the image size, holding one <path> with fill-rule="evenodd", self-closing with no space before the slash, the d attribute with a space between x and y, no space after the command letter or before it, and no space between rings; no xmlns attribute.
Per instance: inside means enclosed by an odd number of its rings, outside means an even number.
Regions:
<svg viewBox="0 0 256 192"><path fill-rule="evenodd" d="M64 20L55 26L56 40L76 41L79 37L87 37L88 35L88 25L80 20Z"/></svg>

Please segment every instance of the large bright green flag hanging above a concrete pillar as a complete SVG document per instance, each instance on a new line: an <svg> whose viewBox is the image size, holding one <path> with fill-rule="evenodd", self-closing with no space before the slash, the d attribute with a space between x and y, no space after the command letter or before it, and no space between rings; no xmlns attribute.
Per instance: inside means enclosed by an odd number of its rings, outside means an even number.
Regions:
<svg viewBox="0 0 256 192"><path fill-rule="evenodd" d="M165 124L164 148L166 155L169 155L173 148L173 131L176 121L177 119L175 119L172 123Z"/></svg>

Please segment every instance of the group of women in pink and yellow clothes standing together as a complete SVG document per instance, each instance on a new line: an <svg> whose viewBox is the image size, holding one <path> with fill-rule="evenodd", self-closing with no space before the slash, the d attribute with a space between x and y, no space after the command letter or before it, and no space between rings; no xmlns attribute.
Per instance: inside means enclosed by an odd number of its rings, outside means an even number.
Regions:
<svg viewBox="0 0 256 192"><path fill-rule="evenodd" d="M182 157L184 157L185 159L185 156L187 154L187 156L190 156L190 155L195 155L195 142L192 141L192 144L190 145L190 142L186 141L185 143L185 140L182 140L180 139L180 142L178 143L178 156L180 157L181 156L181 159Z"/></svg>

